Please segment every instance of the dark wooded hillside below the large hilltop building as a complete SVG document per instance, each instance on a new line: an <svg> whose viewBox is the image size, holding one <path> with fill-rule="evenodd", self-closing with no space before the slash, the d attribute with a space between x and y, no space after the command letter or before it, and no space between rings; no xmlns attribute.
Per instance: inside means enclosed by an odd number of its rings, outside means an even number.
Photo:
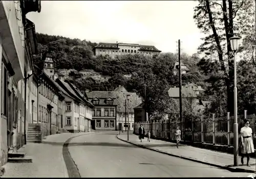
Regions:
<svg viewBox="0 0 256 179"><path fill-rule="evenodd" d="M177 54L161 53L154 58L137 54L95 57L92 49L97 43L87 40L37 34L37 41L39 53L35 56L35 64L42 68L41 56L47 52L52 56L55 68L66 74L66 79L82 92L87 89L111 91L122 85L144 98L146 85L147 108L151 116L161 117L163 112L168 111L166 104L170 101L167 90L179 85L178 75L173 73L174 63L178 60ZM201 85L206 89L201 98L212 101L208 111L225 115L227 95L220 62L216 59L200 59L198 54L182 54L181 59L191 70L182 74L182 85L192 82ZM246 66L251 66L252 71L248 71ZM97 74L97 78L91 74ZM238 80L239 112L243 113L244 109L253 111L255 88L251 61L245 59L239 62L238 78L241 78Z"/></svg>

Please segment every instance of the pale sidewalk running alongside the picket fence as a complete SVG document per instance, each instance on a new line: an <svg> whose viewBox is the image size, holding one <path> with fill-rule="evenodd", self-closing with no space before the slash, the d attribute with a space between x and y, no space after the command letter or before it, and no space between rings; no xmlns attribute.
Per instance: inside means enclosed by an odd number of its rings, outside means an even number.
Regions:
<svg viewBox="0 0 256 179"><path fill-rule="evenodd" d="M134 134L129 135L129 141L127 141L127 134L117 135L117 138L125 142L129 142L144 148L161 152L163 154L224 168L230 171L255 172L255 158L250 159L251 166L248 167L246 165L241 165L241 159L239 157L239 166L233 167L233 155L224 152L207 150L184 144L179 144L179 148L177 148L176 143L156 139L151 139L150 142L147 142L147 138L145 138L142 142L140 142L139 137ZM245 157L244 164L246 164L246 162L247 159Z"/></svg>

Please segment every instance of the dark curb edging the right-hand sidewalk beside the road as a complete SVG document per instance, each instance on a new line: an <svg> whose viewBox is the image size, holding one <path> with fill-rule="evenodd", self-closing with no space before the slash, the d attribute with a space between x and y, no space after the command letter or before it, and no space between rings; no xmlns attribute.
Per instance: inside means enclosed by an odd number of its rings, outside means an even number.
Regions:
<svg viewBox="0 0 256 179"><path fill-rule="evenodd" d="M177 157L177 158L180 158L180 159L185 159L185 160L189 160L189 161L193 161L193 162L197 162L197 163L201 163L201 164L205 164L205 165L210 165L210 166L222 168L222 169L225 169L225 170L229 170L231 172L248 172L248 173L254 173L255 172L254 170L243 169L243 168L230 168L230 167L227 167L227 166L222 166L222 165L212 164L212 163L209 163L209 162L200 161L200 160L193 159L193 158L190 158L190 157L184 157L184 156L171 154L171 153L168 153L168 152L165 152L165 151L161 151L161 150L154 149L154 148L151 148L151 147L147 147L147 146L144 146L144 145L138 145L138 144L135 144L133 142L123 140L123 139L119 138L118 135L116 135L116 138L123 141L123 142L127 142L127 143L130 143L130 144L139 146L141 148L146 148L146 149L149 149L149 150L160 152L161 154L165 154L165 155L172 156L172 157Z"/></svg>

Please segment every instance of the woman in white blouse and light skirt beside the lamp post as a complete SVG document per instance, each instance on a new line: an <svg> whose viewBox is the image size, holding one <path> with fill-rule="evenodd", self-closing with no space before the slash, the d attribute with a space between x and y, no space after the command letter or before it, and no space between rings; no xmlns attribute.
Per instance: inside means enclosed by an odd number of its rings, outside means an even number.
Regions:
<svg viewBox="0 0 256 179"><path fill-rule="evenodd" d="M245 120L245 126L241 128L241 163L244 165L244 157L247 157L247 166L249 165L250 160L250 154L254 153L254 146L253 146L253 140L252 140L252 130L251 127L249 127L250 122L248 120Z"/></svg>

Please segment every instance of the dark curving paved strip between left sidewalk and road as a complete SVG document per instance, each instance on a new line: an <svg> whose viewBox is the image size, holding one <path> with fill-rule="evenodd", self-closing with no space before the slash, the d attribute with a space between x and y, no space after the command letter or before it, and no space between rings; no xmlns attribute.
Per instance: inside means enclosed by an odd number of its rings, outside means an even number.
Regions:
<svg viewBox="0 0 256 179"><path fill-rule="evenodd" d="M89 134L95 134L95 133L89 133ZM89 135L89 134L81 134L81 135L78 135L78 136L73 136L73 137L69 138L68 140L66 140L65 142L63 142L62 156L63 156L63 159L65 161L69 177L75 177L75 178L77 178L77 177L80 178L81 177L80 173L79 173L79 170L77 168L77 165L76 165L76 163L74 162L74 160L72 159L72 157L70 155L69 143L75 137Z"/></svg>

